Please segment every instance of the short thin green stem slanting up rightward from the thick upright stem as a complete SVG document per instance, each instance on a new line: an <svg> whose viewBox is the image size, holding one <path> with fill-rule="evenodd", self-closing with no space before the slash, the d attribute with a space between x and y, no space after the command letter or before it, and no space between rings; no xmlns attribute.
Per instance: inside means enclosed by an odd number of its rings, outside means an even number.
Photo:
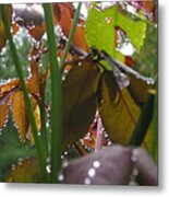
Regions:
<svg viewBox="0 0 169 197"><path fill-rule="evenodd" d="M62 56L61 61L60 61L60 67L61 68L65 63L65 59L67 59L68 53L69 53L71 44L72 44L72 39L73 39L74 33L75 33L75 30L76 30L76 25L77 25L77 22L79 22L79 18L80 18L81 7L82 7L82 2L79 2L79 5L77 5L77 9L75 11L74 19L73 19L73 25L72 25L72 28L70 31L68 42L67 42L67 45L64 47L63 56Z"/></svg>

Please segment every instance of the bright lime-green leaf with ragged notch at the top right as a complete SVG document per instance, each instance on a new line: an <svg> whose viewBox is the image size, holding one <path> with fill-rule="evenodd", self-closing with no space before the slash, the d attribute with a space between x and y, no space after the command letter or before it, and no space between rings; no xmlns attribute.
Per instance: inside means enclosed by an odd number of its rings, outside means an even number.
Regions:
<svg viewBox="0 0 169 197"><path fill-rule="evenodd" d="M123 15L118 5L105 10L97 10L94 5L88 11L86 20L86 38L88 46L104 49L110 56L124 62L122 54L116 51L116 28L120 27L131 39L137 53L144 42L146 24L133 21ZM104 30L104 31L102 31Z"/></svg>

